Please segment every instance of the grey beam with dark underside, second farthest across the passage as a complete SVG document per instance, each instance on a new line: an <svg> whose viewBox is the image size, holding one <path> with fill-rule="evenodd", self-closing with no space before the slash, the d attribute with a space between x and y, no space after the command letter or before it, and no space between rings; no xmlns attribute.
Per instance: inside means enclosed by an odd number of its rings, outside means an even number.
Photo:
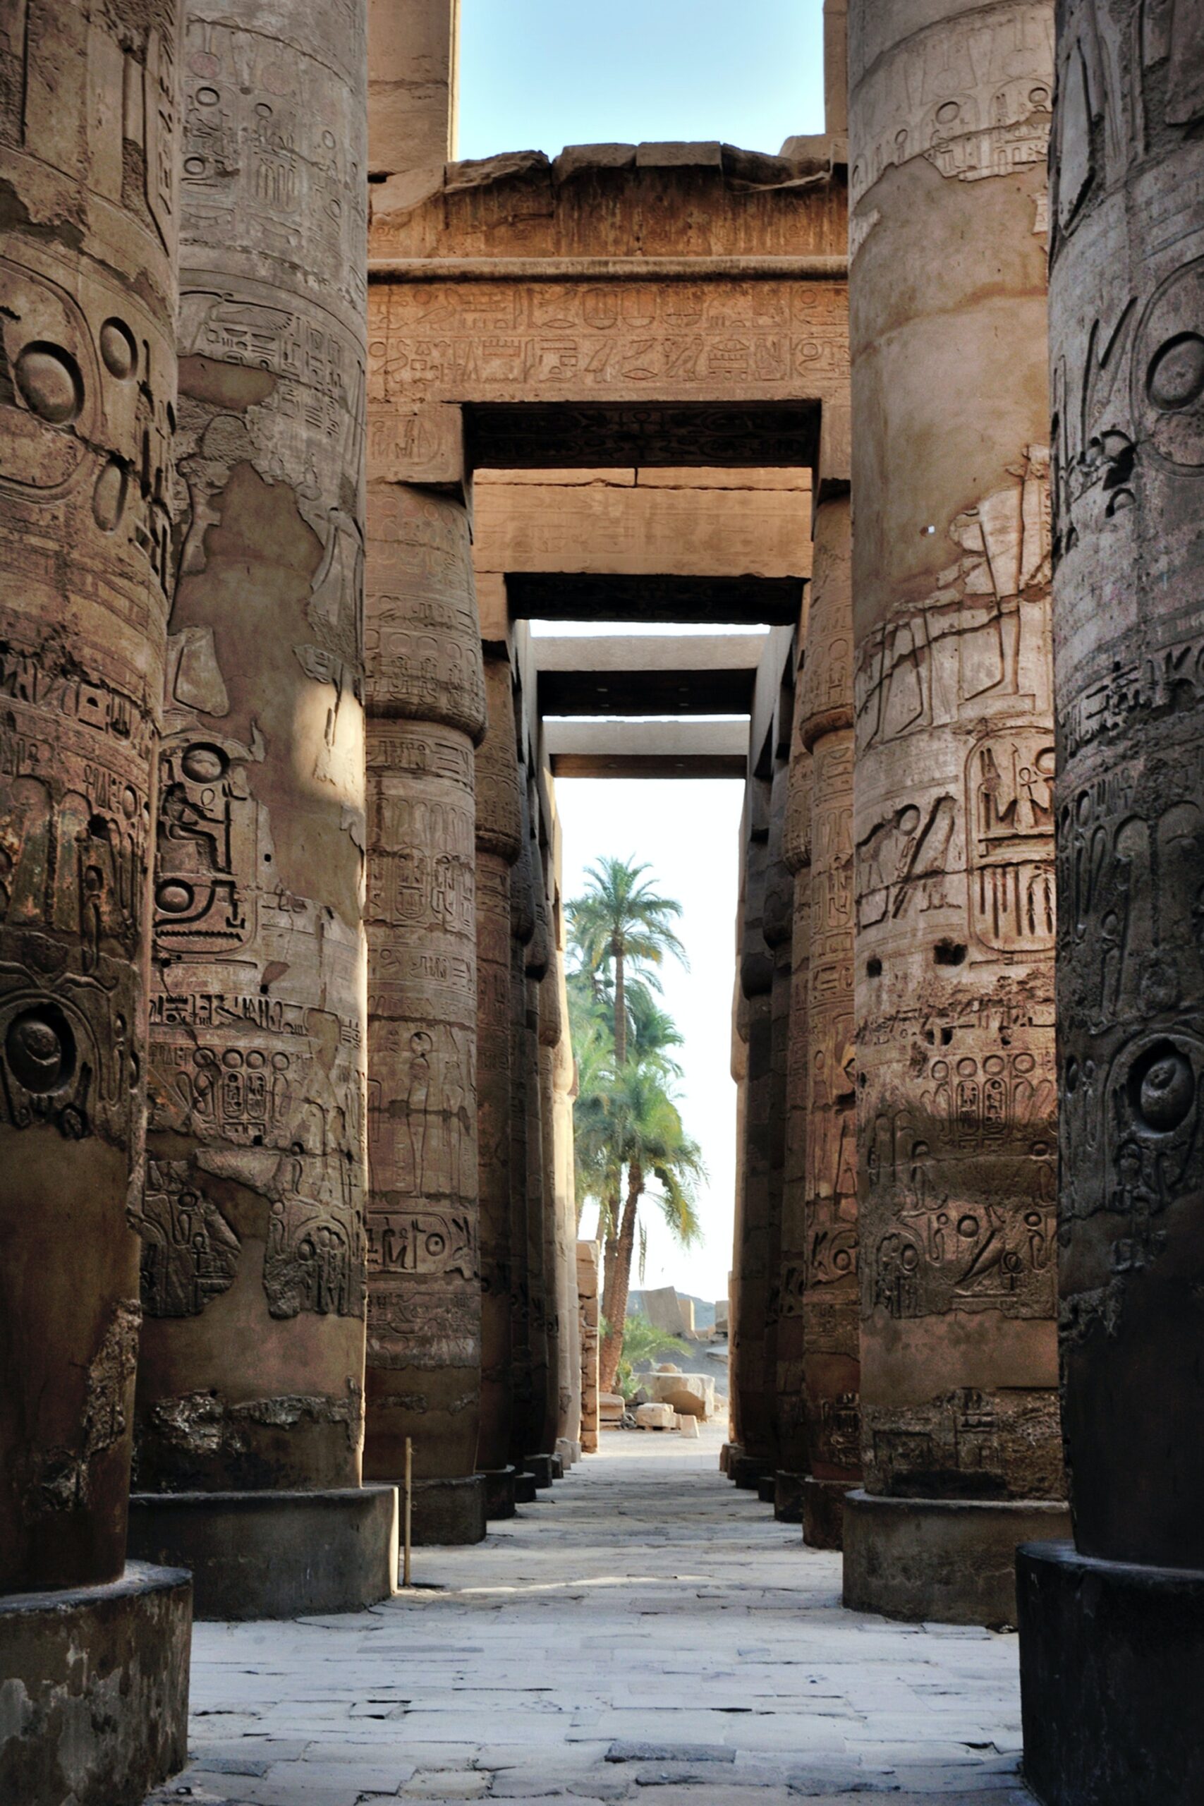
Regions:
<svg viewBox="0 0 1204 1806"><path fill-rule="evenodd" d="M536 638L543 715L747 715L764 634Z"/></svg>

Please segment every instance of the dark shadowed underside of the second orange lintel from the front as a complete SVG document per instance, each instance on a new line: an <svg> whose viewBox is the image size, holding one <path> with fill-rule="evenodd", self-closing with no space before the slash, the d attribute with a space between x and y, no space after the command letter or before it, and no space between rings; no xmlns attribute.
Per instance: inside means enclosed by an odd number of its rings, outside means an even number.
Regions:
<svg viewBox="0 0 1204 1806"><path fill-rule="evenodd" d="M803 605L803 580L507 571L505 594L511 616L527 621L792 627Z"/></svg>

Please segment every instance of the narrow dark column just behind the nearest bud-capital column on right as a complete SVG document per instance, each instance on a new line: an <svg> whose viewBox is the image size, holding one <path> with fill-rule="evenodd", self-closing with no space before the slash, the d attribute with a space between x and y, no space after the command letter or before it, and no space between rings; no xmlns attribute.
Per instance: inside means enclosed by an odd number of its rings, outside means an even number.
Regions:
<svg viewBox="0 0 1204 1806"><path fill-rule="evenodd" d="M782 1438L774 1515L800 1522L807 1474L807 1414L803 1409L803 1275L807 1262L807 1073L810 1044L810 753L803 746L798 712L803 690L794 688L791 764L782 827L782 858L794 876L791 908L791 1031L785 1075L785 1161L782 1168L782 1230L778 1252L778 1430ZM717 1324L718 1327L718 1324Z"/></svg>

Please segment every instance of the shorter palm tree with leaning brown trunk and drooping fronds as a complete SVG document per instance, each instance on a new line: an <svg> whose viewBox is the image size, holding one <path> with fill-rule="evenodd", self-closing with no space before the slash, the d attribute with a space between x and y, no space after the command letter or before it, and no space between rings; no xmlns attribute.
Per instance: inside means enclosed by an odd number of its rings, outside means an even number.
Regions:
<svg viewBox="0 0 1204 1806"><path fill-rule="evenodd" d="M599 1385L612 1392L623 1354L623 1327L626 1299L632 1286L635 1232L639 1206L650 1179L659 1192L652 1197L661 1215L682 1246L690 1248L702 1235L695 1212L693 1185L704 1178L702 1154L682 1127L681 1114L666 1089L662 1073L650 1062L628 1060L616 1075L610 1098L612 1152L617 1165L626 1167L626 1196L623 1214L616 1223L617 1192L607 1235L607 1275L603 1288L603 1317L607 1333L599 1354Z"/></svg>

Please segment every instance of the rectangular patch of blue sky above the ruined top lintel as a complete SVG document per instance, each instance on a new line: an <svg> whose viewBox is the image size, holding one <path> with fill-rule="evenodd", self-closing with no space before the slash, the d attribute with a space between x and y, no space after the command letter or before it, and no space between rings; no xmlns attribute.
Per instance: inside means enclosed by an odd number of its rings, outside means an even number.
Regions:
<svg viewBox="0 0 1204 1806"><path fill-rule="evenodd" d="M458 157L823 130L823 0L460 0Z"/></svg>

